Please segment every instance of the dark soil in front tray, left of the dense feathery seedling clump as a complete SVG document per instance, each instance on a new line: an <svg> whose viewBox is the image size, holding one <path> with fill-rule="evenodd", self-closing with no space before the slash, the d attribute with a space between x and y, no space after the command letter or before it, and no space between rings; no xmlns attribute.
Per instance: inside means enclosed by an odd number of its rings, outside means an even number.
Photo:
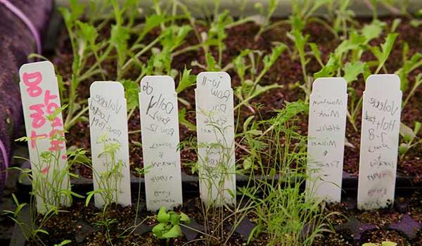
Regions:
<svg viewBox="0 0 422 246"><path fill-rule="evenodd" d="M88 207L85 206L84 202L75 202L70 208L64 208L65 212L60 212L58 215L53 216L49 219L48 223L44 226L46 231L49 231L49 235L40 235L40 239L45 245L53 245L62 242L65 239L72 240L69 245L90 245L90 246L103 246L110 245L140 245L140 246L151 246L151 245L184 245L189 242L188 245L204 245L203 233L213 233L212 231L206 230L204 227L204 217L201 212L200 202L198 198L188 200L185 202L183 208L174 209L175 212L184 212L191 219L191 223L187 224L186 228L181 226L183 235L179 238L171 239L169 244L166 244L165 240L159 240L155 238L151 229L153 226L158 224L155 220L155 214L147 212L145 207L139 210L137 216L136 225L136 209L134 207L121 207L120 205L111 205L109 209L103 214L102 209L94 207L91 203ZM224 217L228 218L231 212L224 209ZM103 217L105 216L105 217ZM231 216L233 217L233 216ZM104 219L106 218L106 219ZM216 228L219 221L217 216L209 216L209 228ZM99 221L113 221L109 224L110 230L106 230L106 226L99 224ZM229 235L230 225L233 225L232 219L226 220L224 225L224 235ZM198 231L203 233L198 233ZM264 237L262 237L264 238ZM252 245L265 245L265 241L262 238L252 241ZM211 245L243 245L245 238L242 237L241 233L234 232L227 242L220 242L219 240L212 239ZM36 242L27 242L27 245L37 245Z"/></svg>

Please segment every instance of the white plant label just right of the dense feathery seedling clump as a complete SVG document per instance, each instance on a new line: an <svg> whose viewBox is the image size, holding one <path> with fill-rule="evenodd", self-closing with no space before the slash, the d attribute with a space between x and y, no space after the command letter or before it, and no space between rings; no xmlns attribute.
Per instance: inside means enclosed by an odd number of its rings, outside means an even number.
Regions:
<svg viewBox="0 0 422 246"><path fill-rule="evenodd" d="M309 194L340 202L343 180L347 83L343 78L314 81L309 100L307 179Z"/></svg>

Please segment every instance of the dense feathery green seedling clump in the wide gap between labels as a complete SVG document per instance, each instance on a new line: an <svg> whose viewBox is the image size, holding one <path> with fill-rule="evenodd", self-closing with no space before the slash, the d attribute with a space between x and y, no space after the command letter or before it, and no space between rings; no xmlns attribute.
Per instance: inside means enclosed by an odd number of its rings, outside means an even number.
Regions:
<svg viewBox="0 0 422 246"><path fill-rule="evenodd" d="M252 214L257 218L257 226L248 242L266 235L268 245L312 245L316 235L330 229L326 218L331 214L324 214L324 205L300 191L305 181L301 169L306 162L306 138L295 131L293 122L307 109L307 104L301 101L289 103L276 117L261 121L261 126L245 127L246 131L256 127L267 129L262 134L256 132L255 140L248 145L252 156L249 162L271 178L252 178L254 186L239 190L255 205ZM249 142L250 138L245 140ZM254 150L257 141L262 142L261 149Z"/></svg>

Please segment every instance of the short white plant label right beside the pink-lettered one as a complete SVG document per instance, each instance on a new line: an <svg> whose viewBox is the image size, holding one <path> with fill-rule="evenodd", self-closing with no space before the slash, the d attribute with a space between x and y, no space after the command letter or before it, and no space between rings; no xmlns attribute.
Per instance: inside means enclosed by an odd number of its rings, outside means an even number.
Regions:
<svg viewBox="0 0 422 246"><path fill-rule="evenodd" d="M127 104L119 82L94 82L89 88L89 131L95 206L131 205Z"/></svg>

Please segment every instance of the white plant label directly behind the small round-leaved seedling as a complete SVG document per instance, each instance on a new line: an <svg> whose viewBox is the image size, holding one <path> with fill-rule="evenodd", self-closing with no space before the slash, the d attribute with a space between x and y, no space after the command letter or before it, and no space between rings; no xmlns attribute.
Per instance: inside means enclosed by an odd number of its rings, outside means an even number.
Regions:
<svg viewBox="0 0 422 246"><path fill-rule="evenodd" d="M146 207L156 211L182 205L179 110L174 80L146 76L139 93Z"/></svg>

